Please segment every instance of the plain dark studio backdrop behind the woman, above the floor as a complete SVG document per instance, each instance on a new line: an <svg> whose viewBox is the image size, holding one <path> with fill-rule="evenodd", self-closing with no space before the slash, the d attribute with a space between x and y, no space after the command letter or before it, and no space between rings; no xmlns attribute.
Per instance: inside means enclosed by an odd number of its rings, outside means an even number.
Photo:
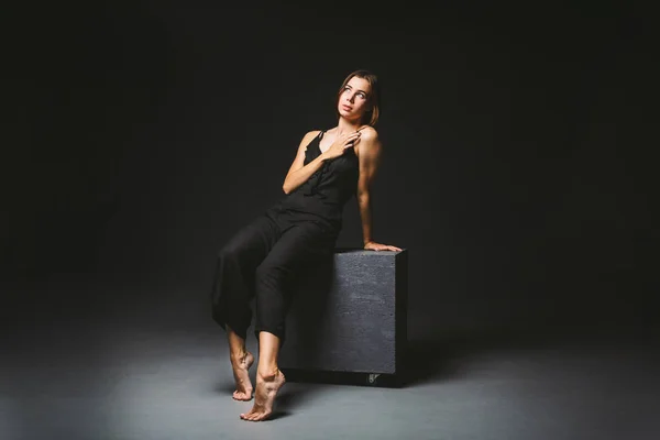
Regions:
<svg viewBox="0 0 660 440"><path fill-rule="evenodd" d="M283 197L301 136L333 127L341 80L369 68L375 238L409 251L414 333L651 324L644 10L218 3L8 14L9 318L102 315L114 296L210 319L217 250ZM338 244L361 244L354 201ZM131 294L66 287L80 279Z"/></svg>

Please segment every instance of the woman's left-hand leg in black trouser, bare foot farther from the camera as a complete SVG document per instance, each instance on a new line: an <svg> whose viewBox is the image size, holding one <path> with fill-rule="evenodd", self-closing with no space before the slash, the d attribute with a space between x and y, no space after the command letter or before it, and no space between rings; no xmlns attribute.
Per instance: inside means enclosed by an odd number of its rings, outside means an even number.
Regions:
<svg viewBox="0 0 660 440"><path fill-rule="evenodd" d="M248 370L254 362L245 348L252 320L250 300L254 296L254 273L279 237L279 229L264 216L241 229L218 254L212 289L212 315L227 330L230 361L237 384L233 398L252 399Z"/></svg>

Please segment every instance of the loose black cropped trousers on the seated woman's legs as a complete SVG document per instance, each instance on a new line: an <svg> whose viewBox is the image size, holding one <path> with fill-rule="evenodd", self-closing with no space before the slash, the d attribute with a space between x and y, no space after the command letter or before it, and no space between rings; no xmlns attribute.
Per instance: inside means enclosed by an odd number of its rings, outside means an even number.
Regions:
<svg viewBox="0 0 660 440"><path fill-rule="evenodd" d="M334 251L337 232L289 211L268 210L220 250L212 288L213 320L246 338L255 299L254 334L285 340L285 319L297 276Z"/></svg>

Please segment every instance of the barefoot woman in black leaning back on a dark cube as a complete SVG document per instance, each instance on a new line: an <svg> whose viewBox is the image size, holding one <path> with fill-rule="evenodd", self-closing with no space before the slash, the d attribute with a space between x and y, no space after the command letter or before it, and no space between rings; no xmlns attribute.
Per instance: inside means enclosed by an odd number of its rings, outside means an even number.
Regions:
<svg viewBox="0 0 660 440"><path fill-rule="evenodd" d="M249 302L256 299L256 391L252 410L241 414L244 420L264 420L273 411L275 395L285 383L277 354L290 302L287 284L309 264L333 253L343 207L353 195L360 207L364 249L400 251L372 237L370 187L382 151L374 129L378 114L376 76L366 70L351 73L338 94L337 127L302 138L284 180L286 197L240 230L218 255L213 319L228 333L237 400L252 398L248 370L254 356L245 349L245 338L252 320Z"/></svg>

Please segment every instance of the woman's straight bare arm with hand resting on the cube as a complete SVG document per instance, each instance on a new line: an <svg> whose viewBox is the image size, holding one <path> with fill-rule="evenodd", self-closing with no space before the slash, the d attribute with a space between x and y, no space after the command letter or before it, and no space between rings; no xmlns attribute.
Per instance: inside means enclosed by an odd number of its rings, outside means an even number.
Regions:
<svg viewBox="0 0 660 440"><path fill-rule="evenodd" d="M378 140L378 133L369 128L361 130L362 135L355 145L360 161L360 178L358 179L358 206L362 220L362 237L364 249L371 251L400 251L400 248L377 243L373 240L373 216L371 204L371 186L376 176L383 146Z"/></svg>

